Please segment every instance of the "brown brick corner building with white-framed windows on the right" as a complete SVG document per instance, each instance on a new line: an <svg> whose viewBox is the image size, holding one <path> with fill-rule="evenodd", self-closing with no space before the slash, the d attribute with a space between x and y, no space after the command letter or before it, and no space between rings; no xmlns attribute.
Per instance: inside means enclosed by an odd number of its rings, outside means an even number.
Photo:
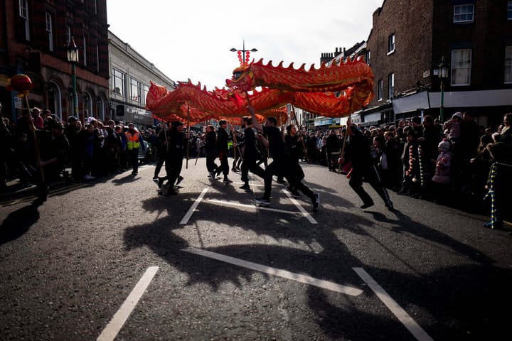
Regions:
<svg viewBox="0 0 512 341"><path fill-rule="evenodd" d="M444 121L471 110L479 124L497 126L512 112L510 0L384 0L366 44L375 97L353 115L363 126L439 117L441 107Z"/></svg>

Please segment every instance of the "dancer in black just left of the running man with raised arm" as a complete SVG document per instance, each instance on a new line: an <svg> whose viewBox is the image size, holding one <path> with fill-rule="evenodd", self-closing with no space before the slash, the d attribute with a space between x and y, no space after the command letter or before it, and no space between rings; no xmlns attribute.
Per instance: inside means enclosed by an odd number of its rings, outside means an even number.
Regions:
<svg viewBox="0 0 512 341"><path fill-rule="evenodd" d="M242 160L242 178L244 182L242 190L250 190L249 186L249 171L261 178L264 177L265 171L261 168L257 161L260 159L260 151L258 151L256 144L257 140L255 132L252 130L252 120L250 117L243 117L242 128L244 128L244 141L243 141L243 160Z"/></svg>

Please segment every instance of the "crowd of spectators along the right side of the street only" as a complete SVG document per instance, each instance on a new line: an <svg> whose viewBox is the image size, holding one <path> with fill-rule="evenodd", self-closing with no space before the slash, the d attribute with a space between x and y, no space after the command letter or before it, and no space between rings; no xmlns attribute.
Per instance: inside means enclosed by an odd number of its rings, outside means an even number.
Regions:
<svg viewBox="0 0 512 341"><path fill-rule="evenodd" d="M457 112L444 124L426 115L396 126L358 128L368 138L385 187L399 195L481 207L491 165L512 164L511 119L512 114L506 114L503 124L490 128L479 126L471 112ZM338 163L344 133L345 129L304 132L304 161L348 173L350 160L345 157L343 165ZM511 175L508 171L506 176Z"/></svg>

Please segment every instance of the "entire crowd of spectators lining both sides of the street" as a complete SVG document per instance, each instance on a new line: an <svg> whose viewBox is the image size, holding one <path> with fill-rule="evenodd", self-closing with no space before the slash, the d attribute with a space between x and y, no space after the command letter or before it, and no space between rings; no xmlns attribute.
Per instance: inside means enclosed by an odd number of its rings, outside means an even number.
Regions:
<svg viewBox="0 0 512 341"><path fill-rule="evenodd" d="M358 128L368 139L385 187L415 198L447 204L462 198L466 203L474 200L479 205L489 185L491 165L512 164L511 117L512 114L506 114L503 124L494 128L476 124L471 112L457 112L444 124L427 115L401 120L396 126ZM68 121L59 122L50 112L33 108L31 112L23 110L15 122L3 117L0 124L0 190L6 188L9 175L18 177L23 186L31 185L31 174L37 166L32 124L41 131L50 131L56 124L63 126L69 153L62 165L63 169L71 169L69 177L73 180L91 180L129 169L124 136L127 128L112 120L90 118L82 124L69 117ZM163 129L164 124L140 129L149 146L142 160L156 161L161 148L159 133ZM302 131L302 160L326 166L329 171L348 173L350 160L341 155L344 134L345 129ZM242 131L238 131L238 139L243 140ZM230 142L231 157L236 156L235 149ZM191 131L187 155L206 156L205 134ZM237 168L233 166L233 170Z"/></svg>

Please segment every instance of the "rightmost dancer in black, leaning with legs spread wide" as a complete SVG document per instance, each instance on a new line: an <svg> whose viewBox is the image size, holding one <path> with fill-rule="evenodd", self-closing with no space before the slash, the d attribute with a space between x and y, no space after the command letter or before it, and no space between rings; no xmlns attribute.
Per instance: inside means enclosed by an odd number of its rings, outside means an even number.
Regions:
<svg viewBox="0 0 512 341"><path fill-rule="evenodd" d="M373 200L363 188L363 178L373 187L375 192L384 200L385 207L393 211L393 202L391 202L388 191L385 190L380 182L377 168L373 165L370 146L366 141L363 133L351 124L350 119L347 121L348 133L348 155L352 161L351 179L348 184L361 197L363 205L361 208L373 206Z"/></svg>

